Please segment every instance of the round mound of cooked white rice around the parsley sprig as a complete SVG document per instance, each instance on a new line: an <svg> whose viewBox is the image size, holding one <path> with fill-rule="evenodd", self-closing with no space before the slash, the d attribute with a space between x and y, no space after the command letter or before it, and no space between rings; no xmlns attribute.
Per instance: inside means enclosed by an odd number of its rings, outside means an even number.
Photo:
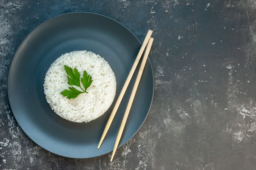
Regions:
<svg viewBox="0 0 256 170"><path fill-rule="evenodd" d="M92 75L93 81L87 88L88 93L82 93L75 99L61 95L63 90L70 87L64 65L77 68L81 76L83 71ZM91 51L73 51L61 55L52 63L43 86L46 100L57 115L69 121L88 122L108 110L115 97L116 85L114 72L101 56ZM77 86L72 87L81 91Z"/></svg>

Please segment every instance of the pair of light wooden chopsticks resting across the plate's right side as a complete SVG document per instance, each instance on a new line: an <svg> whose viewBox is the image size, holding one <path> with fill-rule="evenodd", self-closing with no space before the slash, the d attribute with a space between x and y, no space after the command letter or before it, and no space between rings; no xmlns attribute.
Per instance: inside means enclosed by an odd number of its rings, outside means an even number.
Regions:
<svg viewBox="0 0 256 170"><path fill-rule="evenodd" d="M110 161L113 160L113 157L114 157L115 152L116 152L116 150L117 150L119 141L120 141L120 139L121 139L121 136L122 136L122 133L123 133L123 130L124 130L124 126L125 126L125 124L126 124L127 117L128 117L128 115L129 115L129 112L130 112L130 108L131 108L131 106L132 106L133 99L134 99L134 97L135 97L135 93L136 93L137 88L138 88L138 85L139 85L139 81L140 81L140 79L141 79L142 72L143 72L143 70L144 70L144 67L145 67L145 64L146 64L146 61L147 61L147 58L148 58L148 54L149 54L150 48L151 48L152 43L153 43L153 40L154 40L154 38L150 38L151 35L152 35L152 33L153 33L153 31L148 30L148 33L147 33L147 35L146 35L146 37L145 37L145 39L144 39L144 41L143 41L143 43L142 43L142 45L141 45L141 48L140 48L139 53L138 53L138 55L137 55L137 57L136 57L136 59L135 59L135 62L134 62L133 65L132 65L132 68L131 68L130 73L129 73L127 79L126 79L126 82L124 83L124 86L123 86L123 88L122 88L122 90L121 90L121 93L120 93L120 95L119 95L119 97L118 97L118 99L117 99L117 102L116 102L116 104L115 104L115 106L114 106L114 108L113 108L113 110L112 110L112 113L111 113L111 115L110 115L110 117L109 117L109 119L108 119L108 122L107 122L107 124L106 124L106 127L105 127L105 129L104 129L104 131L103 131L103 134L102 134L102 136L101 136L101 140L99 141L98 149L99 149L99 147L101 146L101 144L102 144L102 142L103 142L103 139L105 138L105 136L106 136L106 134L107 134L107 132L108 132L108 129L109 129L109 127L110 127L110 125L111 125L111 123L112 123L114 117L115 117L115 114L116 114L117 109L118 109L118 107L119 107L119 105L120 105L120 103L121 103L121 100L122 100L123 97L124 97L124 93L126 92L126 89L127 89L128 85L129 85L129 83L130 83L130 80L131 80L131 78L132 78L132 75L133 75L133 73L135 72L135 69L136 69L136 67L137 67L137 65L138 65L138 63L139 63L139 60L140 60L140 58L141 58L141 56L142 56L142 53L143 53L145 47L147 46L146 51L145 51L144 56L143 56L143 59L142 59L142 62L141 62L141 66L140 66L140 68L139 68L139 73L138 73L137 78L136 78L136 80L135 80L135 84L134 84L134 86L133 86L133 88L132 88L132 93L131 93L131 95L130 95L130 99L129 99L128 105L127 105L127 107L126 107L126 111L125 111L125 113L124 113L124 118L123 118L123 120L122 120L120 129L119 129L119 132L118 132L118 134L117 134L117 139L116 139L116 141L115 141L115 146L114 146L114 149L113 149L113 152L112 152L112 156L111 156Z"/></svg>

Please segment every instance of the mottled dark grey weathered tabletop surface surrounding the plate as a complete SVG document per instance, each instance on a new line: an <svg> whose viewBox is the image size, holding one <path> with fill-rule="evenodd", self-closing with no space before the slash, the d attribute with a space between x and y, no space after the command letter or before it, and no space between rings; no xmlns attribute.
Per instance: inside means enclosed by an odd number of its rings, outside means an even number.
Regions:
<svg viewBox="0 0 256 170"><path fill-rule="evenodd" d="M25 36L53 16L90 11L113 18L150 53L155 96L127 144L93 159L68 159L34 144L17 125L7 73ZM0 170L254 170L254 0L0 0Z"/></svg>

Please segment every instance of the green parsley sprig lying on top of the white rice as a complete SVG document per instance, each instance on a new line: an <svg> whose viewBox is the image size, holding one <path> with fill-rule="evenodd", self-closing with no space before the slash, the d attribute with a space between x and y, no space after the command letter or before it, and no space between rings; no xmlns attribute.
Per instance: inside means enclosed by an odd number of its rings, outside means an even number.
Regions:
<svg viewBox="0 0 256 170"><path fill-rule="evenodd" d="M83 88L80 85L80 73L76 68L74 71L69 66L64 66L65 71L67 73L67 84L78 86L82 91L77 90L74 87L69 87L69 90L64 90L61 92L63 96L67 96L68 99L74 99L81 93L88 93L86 89L92 84L92 76L89 75L86 71L83 72L83 77L81 77L81 82L83 84Z"/></svg>

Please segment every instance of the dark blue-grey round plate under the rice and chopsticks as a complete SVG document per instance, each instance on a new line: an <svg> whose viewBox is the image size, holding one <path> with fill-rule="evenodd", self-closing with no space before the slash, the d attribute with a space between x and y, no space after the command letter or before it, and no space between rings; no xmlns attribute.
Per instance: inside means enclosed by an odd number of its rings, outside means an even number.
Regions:
<svg viewBox="0 0 256 170"><path fill-rule="evenodd" d="M65 157L90 158L111 152L139 66L101 148L97 146L140 46L139 40L125 26L96 13L67 13L40 24L20 44L9 69L9 102L22 130L42 148ZM52 62L75 50L101 55L110 64L117 80L112 106L89 123L74 123L56 115L46 102L43 89L45 73ZM143 124L153 91L153 72L148 60L119 146L135 135Z"/></svg>

